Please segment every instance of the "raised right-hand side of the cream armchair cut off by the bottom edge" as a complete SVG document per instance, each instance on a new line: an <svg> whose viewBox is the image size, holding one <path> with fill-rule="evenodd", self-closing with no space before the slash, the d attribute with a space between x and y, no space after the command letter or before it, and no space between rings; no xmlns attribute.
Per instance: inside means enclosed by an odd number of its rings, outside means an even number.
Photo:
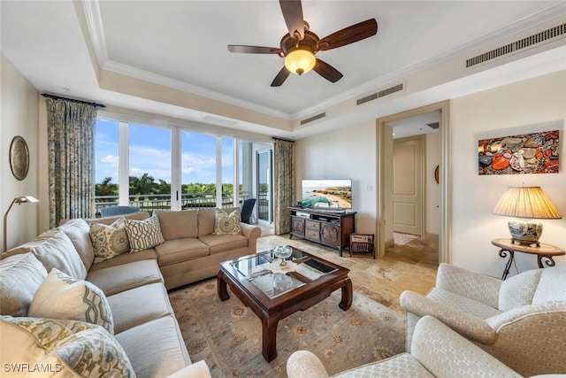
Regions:
<svg viewBox="0 0 566 378"><path fill-rule="evenodd" d="M410 354L437 377L521 376L431 316L418 320L411 345Z"/></svg>

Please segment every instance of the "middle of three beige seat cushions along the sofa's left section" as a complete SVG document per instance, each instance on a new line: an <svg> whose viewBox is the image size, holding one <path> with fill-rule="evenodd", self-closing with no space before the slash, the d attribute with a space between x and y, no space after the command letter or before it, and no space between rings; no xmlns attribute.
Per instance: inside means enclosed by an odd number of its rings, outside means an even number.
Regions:
<svg viewBox="0 0 566 378"><path fill-rule="evenodd" d="M108 297L108 303L117 334L149 320L173 315L167 291L161 282L121 291Z"/></svg>

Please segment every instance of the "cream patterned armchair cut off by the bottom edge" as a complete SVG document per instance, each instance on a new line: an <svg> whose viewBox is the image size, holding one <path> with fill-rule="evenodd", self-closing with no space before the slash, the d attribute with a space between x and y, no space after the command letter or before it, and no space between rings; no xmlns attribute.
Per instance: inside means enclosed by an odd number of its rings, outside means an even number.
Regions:
<svg viewBox="0 0 566 378"><path fill-rule="evenodd" d="M424 316L414 329L410 353L398 354L347 370L333 377L520 377L501 361L447 328ZM310 351L295 351L287 359L289 378L327 378L320 359Z"/></svg>

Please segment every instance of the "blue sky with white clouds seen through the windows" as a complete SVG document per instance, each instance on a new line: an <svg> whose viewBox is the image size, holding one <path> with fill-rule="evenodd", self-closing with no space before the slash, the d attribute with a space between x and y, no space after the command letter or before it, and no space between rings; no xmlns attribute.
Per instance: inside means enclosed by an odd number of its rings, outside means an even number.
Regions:
<svg viewBox="0 0 566 378"><path fill-rule="evenodd" d="M171 130L129 125L129 175L171 183ZM233 141L222 138L222 182L233 183ZM119 182L119 123L96 121L96 182ZM182 183L216 181L216 136L181 131Z"/></svg>

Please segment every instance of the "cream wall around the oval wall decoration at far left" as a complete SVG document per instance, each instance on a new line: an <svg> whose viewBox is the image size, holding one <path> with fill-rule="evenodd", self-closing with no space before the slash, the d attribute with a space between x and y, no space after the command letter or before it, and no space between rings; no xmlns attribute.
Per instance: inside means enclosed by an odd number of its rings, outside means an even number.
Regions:
<svg viewBox="0 0 566 378"><path fill-rule="evenodd" d="M39 93L26 78L19 73L1 55L1 112L0 120L0 212L4 217L4 212L8 210L11 201L20 196L38 196L37 185L37 161L38 161L38 102ZM27 142L30 161L27 177L18 181L11 174L10 162L8 160L10 143L14 136L20 135ZM38 234L38 212L37 204L15 204L8 215L8 248L14 247L19 243L27 242ZM3 227L4 227L4 220ZM2 244L4 245L4 236Z"/></svg>

